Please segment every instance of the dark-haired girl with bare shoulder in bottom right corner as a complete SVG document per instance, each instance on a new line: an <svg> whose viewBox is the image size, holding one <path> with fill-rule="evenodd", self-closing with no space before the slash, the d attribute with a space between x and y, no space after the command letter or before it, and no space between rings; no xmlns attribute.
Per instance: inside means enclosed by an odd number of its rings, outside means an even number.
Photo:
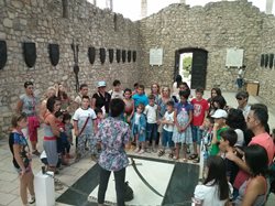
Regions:
<svg viewBox="0 0 275 206"><path fill-rule="evenodd" d="M235 199L235 205L264 205L270 187L266 180L268 169L266 150L257 144L249 145L244 149L244 161L250 167L251 175L239 188L239 196Z"/></svg>

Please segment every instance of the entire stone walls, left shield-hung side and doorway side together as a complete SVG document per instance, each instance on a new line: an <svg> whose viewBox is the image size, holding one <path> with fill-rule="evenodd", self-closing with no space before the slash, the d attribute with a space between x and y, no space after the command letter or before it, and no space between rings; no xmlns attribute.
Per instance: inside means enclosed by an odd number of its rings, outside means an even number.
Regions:
<svg viewBox="0 0 275 206"><path fill-rule="evenodd" d="M123 87L139 82L150 86L157 82L172 85L175 73L175 51L202 48L208 52L206 88L219 85L235 90L237 68L226 68L227 48L244 50L245 78L260 82L260 96L266 102L275 100L275 69L261 66L262 54L275 53L275 18L267 15L248 0L208 3L189 8L172 4L138 22L110 10L100 10L84 1L0 0L0 41L7 42L8 61L0 69L0 130L10 124L23 83L31 79L37 95L62 82L75 96L74 53L70 44L79 44L79 83L88 83L90 93L96 82L107 80L109 88L119 78ZM29 68L22 55L22 43L36 44L37 58ZM48 44L59 45L59 63L52 66ZM95 46L96 61L89 63L87 51ZM150 48L164 51L163 65L150 66ZM136 62L99 59L99 48L136 51ZM0 132L1 132L0 131Z"/></svg>

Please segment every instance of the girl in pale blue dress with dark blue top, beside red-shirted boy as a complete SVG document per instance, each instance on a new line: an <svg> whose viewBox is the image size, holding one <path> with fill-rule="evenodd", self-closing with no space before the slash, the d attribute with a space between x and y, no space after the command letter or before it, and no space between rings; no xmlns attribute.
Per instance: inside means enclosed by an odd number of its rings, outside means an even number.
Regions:
<svg viewBox="0 0 275 206"><path fill-rule="evenodd" d="M172 138L176 144L174 160L179 159L179 147L182 143L184 143L184 162L187 162L186 144L190 144L193 142L190 122L193 120L194 109L193 105L187 101L189 95L189 90L179 91L180 102L177 104L174 112L175 127Z"/></svg>

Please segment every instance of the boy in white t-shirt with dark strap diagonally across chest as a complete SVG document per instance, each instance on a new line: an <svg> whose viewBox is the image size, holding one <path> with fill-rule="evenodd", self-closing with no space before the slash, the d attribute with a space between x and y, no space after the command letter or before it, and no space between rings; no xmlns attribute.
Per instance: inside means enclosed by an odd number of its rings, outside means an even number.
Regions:
<svg viewBox="0 0 275 206"><path fill-rule="evenodd" d="M92 160L97 155L97 140L94 139L96 133L96 119L95 111L89 108L90 98L82 96L81 107L78 108L73 117L75 135L78 139L76 148L76 161L85 155L85 141L87 140L90 147L90 154Z"/></svg>

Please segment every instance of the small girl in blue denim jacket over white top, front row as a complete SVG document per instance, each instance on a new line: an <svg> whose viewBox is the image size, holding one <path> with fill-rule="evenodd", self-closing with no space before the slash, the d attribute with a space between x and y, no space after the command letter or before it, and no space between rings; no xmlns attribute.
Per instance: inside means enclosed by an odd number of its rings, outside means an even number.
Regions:
<svg viewBox="0 0 275 206"><path fill-rule="evenodd" d="M139 154L145 152L146 117L143 113L143 111L144 111L144 105L139 104L132 119L132 134L136 143L136 149L134 150L134 152L136 153L139 152Z"/></svg>

